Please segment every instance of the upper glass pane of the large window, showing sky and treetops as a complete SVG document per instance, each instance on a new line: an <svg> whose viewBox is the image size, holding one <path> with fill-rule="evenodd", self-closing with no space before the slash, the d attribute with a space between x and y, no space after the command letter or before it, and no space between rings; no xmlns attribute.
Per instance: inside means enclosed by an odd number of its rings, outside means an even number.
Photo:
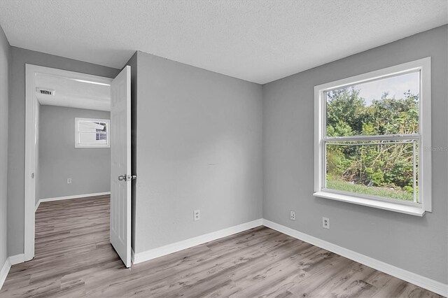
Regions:
<svg viewBox="0 0 448 298"><path fill-rule="evenodd" d="M420 72L325 92L326 136L419 133Z"/></svg>

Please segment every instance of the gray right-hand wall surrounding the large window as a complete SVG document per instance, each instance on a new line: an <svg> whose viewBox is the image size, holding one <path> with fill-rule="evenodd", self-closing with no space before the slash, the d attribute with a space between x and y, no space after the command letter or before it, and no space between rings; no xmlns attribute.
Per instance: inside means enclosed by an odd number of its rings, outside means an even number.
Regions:
<svg viewBox="0 0 448 298"><path fill-rule="evenodd" d="M423 218L312 197L314 85L432 57L432 137L447 144L447 34L439 27L263 85L264 218L447 283L447 152L433 152ZM289 211L297 220L289 220ZM331 229L321 227L330 218Z"/></svg>

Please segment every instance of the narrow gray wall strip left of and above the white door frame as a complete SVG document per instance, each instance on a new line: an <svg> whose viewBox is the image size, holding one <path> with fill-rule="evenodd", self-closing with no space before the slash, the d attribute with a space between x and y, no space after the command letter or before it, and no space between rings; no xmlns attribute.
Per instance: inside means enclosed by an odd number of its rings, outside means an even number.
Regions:
<svg viewBox="0 0 448 298"><path fill-rule="evenodd" d="M25 202L25 64L115 78L120 70L11 47L8 139L8 255L23 253Z"/></svg>

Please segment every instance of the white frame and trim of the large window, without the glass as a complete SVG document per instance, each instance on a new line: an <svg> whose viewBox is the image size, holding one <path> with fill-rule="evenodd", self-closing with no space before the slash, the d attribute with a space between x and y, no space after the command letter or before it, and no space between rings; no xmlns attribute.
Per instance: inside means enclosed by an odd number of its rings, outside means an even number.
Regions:
<svg viewBox="0 0 448 298"><path fill-rule="evenodd" d="M344 201L352 204L370 206L388 211L423 216L426 211L431 212L431 81L430 57L379 69L358 76L336 80L334 82L316 85L314 87L314 197L323 197ZM419 134L400 136L379 136L378 140L385 139L418 139L419 141L419 202L399 201L396 199L381 199L363 194L328 190L325 188L326 158L325 141L335 141L337 138L326 137L326 98L325 92L338 88L349 87L372 80L379 80L390 76L398 76L409 72L420 71L419 94ZM353 136L350 139L362 141L363 138L372 140L371 136ZM340 141L347 141L346 138ZM426 150L425 150L426 148Z"/></svg>

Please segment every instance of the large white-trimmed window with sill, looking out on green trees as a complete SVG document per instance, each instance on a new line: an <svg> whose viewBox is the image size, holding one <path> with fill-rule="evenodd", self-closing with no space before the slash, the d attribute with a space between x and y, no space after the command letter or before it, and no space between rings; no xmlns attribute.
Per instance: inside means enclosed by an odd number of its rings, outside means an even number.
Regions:
<svg viewBox="0 0 448 298"><path fill-rule="evenodd" d="M314 196L431 211L430 57L314 87Z"/></svg>

